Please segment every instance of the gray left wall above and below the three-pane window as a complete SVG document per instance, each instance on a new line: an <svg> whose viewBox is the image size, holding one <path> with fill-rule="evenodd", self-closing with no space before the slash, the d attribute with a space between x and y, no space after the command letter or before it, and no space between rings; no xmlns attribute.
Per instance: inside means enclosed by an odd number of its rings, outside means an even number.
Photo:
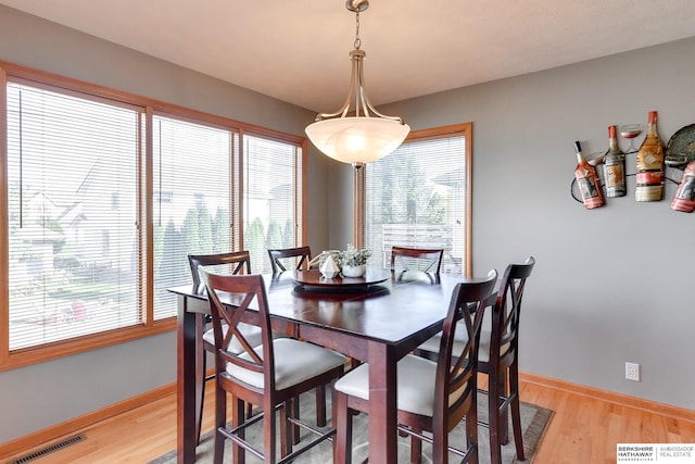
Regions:
<svg viewBox="0 0 695 464"><path fill-rule="evenodd" d="M314 113L0 5L0 60L303 135ZM328 248L327 161L309 150L307 242ZM176 381L174 333L0 372L0 443Z"/></svg>

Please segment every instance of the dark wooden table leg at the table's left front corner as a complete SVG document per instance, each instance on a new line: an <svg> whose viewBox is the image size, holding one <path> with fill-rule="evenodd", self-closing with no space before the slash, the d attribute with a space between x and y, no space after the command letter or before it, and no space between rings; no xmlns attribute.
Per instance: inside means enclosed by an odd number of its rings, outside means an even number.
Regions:
<svg viewBox="0 0 695 464"><path fill-rule="evenodd" d="M197 330L194 313L186 311L187 298L178 296L178 318L176 340L176 449L177 462L195 461L195 422L198 398L195 388L195 344ZM186 399L189 401L186 401Z"/></svg>

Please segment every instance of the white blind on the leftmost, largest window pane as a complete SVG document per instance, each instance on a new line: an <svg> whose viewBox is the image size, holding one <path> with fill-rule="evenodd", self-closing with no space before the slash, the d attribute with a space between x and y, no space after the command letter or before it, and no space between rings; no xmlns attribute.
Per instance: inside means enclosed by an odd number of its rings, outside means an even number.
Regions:
<svg viewBox="0 0 695 464"><path fill-rule="evenodd" d="M142 322L142 112L8 83L9 347Z"/></svg>

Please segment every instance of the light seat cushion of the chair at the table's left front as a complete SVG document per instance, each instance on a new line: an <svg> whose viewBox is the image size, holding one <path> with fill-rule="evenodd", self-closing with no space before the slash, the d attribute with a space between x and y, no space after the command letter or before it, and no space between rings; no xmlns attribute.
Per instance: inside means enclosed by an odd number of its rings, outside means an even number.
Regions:
<svg viewBox="0 0 695 464"><path fill-rule="evenodd" d="M278 338L273 340L275 353L275 388L283 390L306 379L320 375L345 363L345 356L326 348L293 338ZM263 347L254 348L263 358ZM249 353L239 358L249 360ZM263 374L251 372L237 365L227 364L227 373L232 377L263 388Z"/></svg>

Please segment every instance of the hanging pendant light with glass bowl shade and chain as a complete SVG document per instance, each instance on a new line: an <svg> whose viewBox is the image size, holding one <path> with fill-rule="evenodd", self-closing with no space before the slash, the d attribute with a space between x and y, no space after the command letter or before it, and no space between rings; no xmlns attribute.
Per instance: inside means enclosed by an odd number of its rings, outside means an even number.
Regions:
<svg viewBox="0 0 695 464"><path fill-rule="evenodd" d="M319 113L305 131L312 143L327 156L361 166L393 152L403 143L410 127L400 117L379 113L369 101L363 84L366 53L359 49L359 12L365 11L369 2L348 0L345 7L354 11L356 17L355 49L350 52L352 77L348 99L337 112Z"/></svg>

